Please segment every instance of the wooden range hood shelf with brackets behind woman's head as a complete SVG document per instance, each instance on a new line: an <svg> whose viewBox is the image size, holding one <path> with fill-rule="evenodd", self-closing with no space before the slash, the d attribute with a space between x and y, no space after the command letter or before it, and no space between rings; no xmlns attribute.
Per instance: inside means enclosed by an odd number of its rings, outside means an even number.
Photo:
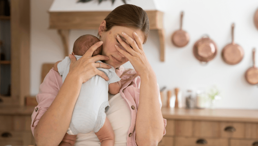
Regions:
<svg viewBox="0 0 258 146"><path fill-rule="evenodd" d="M68 51L70 29L98 29L100 23L110 11L84 11L84 12L49 12L49 28L57 29L60 34L65 52ZM159 35L160 61L165 61L165 39L163 29L163 12L146 11L150 30L157 30ZM94 17L93 17L94 16ZM67 56L67 55L66 55Z"/></svg>

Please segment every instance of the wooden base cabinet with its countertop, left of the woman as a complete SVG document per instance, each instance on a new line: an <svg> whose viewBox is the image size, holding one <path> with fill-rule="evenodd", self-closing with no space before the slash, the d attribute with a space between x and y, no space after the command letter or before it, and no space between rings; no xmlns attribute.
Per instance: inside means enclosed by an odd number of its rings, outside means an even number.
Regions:
<svg viewBox="0 0 258 146"><path fill-rule="evenodd" d="M0 145L35 145L31 114L35 107L0 107Z"/></svg>

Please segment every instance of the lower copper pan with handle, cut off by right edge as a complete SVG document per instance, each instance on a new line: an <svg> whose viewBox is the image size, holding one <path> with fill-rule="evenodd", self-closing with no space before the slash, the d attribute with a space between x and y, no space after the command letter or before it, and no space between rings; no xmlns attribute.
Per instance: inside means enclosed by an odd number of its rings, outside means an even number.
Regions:
<svg viewBox="0 0 258 146"><path fill-rule="evenodd" d="M255 66L255 48L253 49L253 67L245 72L245 79L250 84L258 84L258 68Z"/></svg>

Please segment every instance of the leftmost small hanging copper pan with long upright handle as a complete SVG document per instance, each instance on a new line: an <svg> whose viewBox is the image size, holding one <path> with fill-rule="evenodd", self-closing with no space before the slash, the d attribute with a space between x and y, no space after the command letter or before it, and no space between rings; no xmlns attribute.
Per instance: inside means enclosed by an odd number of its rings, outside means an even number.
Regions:
<svg viewBox="0 0 258 146"><path fill-rule="evenodd" d="M177 47L184 47L189 42L189 34L182 30L184 12L181 12L180 29L172 34L172 43Z"/></svg>

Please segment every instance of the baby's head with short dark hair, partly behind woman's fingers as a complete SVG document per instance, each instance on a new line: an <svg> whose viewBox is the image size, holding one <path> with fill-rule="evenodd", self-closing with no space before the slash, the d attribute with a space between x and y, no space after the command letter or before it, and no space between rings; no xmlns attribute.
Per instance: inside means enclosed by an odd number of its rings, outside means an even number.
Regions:
<svg viewBox="0 0 258 146"><path fill-rule="evenodd" d="M80 36L75 42L74 42L74 47L73 47L73 53L74 55L79 55L82 56L92 45L96 44L100 40L91 34L85 34L83 36ZM97 48L92 56L95 55L101 55L102 52L102 45Z"/></svg>

